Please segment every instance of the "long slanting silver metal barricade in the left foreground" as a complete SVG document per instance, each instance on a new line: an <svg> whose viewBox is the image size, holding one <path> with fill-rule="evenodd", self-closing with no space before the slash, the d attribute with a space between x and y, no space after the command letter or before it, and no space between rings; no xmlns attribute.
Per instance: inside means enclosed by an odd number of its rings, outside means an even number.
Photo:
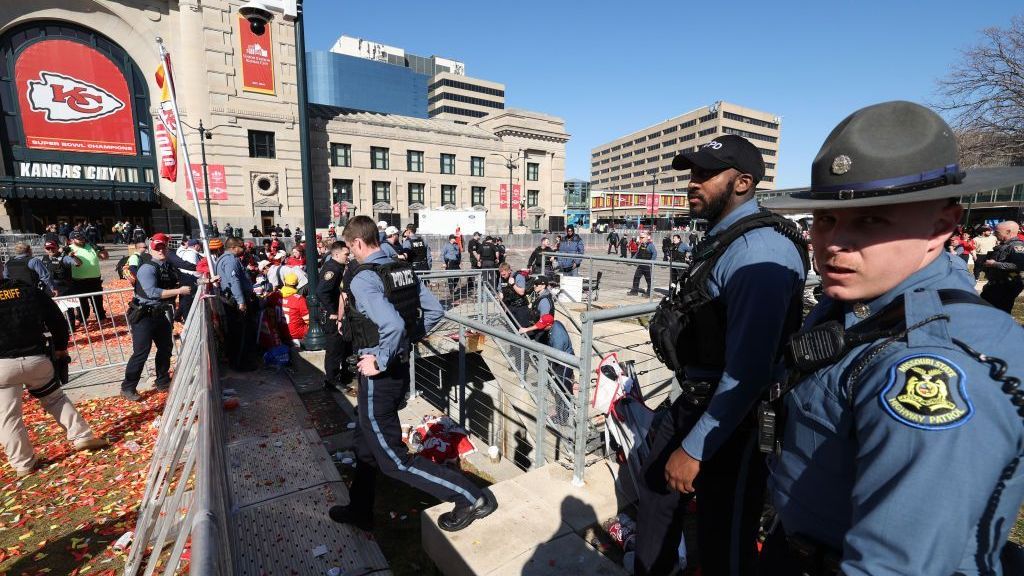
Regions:
<svg viewBox="0 0 1024 576"><path fill-rule="evenodd" d="M203 293L185 321L125 565L127 576L176 573L189 539L190 574L232 574L234 539L226 522L221 390L211 320L216 299Z"/></svg>

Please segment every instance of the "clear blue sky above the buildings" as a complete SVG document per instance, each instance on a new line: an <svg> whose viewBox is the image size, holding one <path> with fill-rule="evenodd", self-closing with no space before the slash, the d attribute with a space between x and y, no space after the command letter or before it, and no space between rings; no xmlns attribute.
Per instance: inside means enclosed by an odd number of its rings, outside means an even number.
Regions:
<svg viewBox="0 0 1024 576"><path fill-rule="evenodd" d="M305 4L307 49L347 34L451 57L505 83L506 106L565 119L566 177L590 177L592 148L715 100L776 114L779 188L809 182L846 115L933 99L982 29L1024 14L1018 0Z"/></svg>

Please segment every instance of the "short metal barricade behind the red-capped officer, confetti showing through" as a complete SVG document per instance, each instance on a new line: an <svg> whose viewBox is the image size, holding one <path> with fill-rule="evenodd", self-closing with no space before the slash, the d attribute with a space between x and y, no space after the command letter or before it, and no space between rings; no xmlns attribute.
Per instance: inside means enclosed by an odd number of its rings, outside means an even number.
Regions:
<svg viewBox="0 0 1024 576"><path fill-rule="evenodd" d="M131 288L117 288L53 298L65 313L71 332L70 375L128 364L132 354L128 303L133 293ZM98 317L99 303L106 316L102 322Z"/></svg>

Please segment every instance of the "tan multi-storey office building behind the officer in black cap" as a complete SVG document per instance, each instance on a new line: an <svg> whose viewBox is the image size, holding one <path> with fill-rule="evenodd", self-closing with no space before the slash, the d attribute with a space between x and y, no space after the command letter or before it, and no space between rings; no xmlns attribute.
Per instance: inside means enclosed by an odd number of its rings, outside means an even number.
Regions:
<svg viewBox="0 0 1024 576"><path fill-rule="evenodd" d="M773 114L718 101L594 148L592 218L604 221L613 209L617 219L641 222L685 216L689 212L685 195L690 174L689 170L673 170L672 159L721 134L738 134L761 150L765 176L758 189L774 190L780 124Z"/></svg>

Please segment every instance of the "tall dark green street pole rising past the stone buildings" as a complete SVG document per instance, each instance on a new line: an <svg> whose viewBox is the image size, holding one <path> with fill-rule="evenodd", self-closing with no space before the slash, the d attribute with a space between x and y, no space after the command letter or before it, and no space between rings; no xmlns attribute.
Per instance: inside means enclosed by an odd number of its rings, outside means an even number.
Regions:
<svg viewBox="0 0 1024 576"><path fill-rule="evenodd" d="M316 213L313 206L312 170L309 168L309 102L306 94L306 42L302 32L302 0L296 2L295 15L295 81L299 97L299 161L302 166L302 221L306 241L306 277L309 281L306 303L309 307L309 329L302 339L307 351L327 347L327 335L319 323L319 301L316 284L319 280L316 263Z"/></svg>

